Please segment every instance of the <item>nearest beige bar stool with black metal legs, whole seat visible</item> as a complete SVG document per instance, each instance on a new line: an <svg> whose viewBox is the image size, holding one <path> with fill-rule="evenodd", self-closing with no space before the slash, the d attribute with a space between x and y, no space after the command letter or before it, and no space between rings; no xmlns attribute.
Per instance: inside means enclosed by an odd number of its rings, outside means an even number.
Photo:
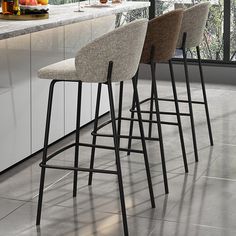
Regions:
<svg viewBox="0 0 236 236"><path fill-rule="evenodd" d="M50 79L52 80L52 82L49 88L43 157L42 157L42 162L40 163L42 169L41 169L40 188L39 188L38 211L36 219L37 225L40 224L41 220L45 171L47 168L72 170L74 172L73 197L76 197L77 195L78 171L89 172L89 173L115 174L118 177L124 235L127 236L129 234L127 217L126 217L122 171L120 165L120 154L119 154L120 151L127 151L127 149L122 149L119 147L120 137L116 128L112 83L126 81L130 79L133 80L133 89L135 94L134 97L135 97L135 102L137 104L140 139L142 143L142 150L136 150L136 152L142 153L144 156L151 205L153 208L155 207L155 200L152 189L152 180L149 170L147 150L144 139L142 117L139 107L138 91L135 83L136 72L138 69L143 43L145 40L146 29L147 29L146 19L136 20L110 33L107 33L106 35L89 43L88 45L86 45L85 47L83 47L81 50L78 51L75 58L64 60L39 70L38 72L39 78ZM48 149L50 117L51 117L51 109L53 101L53 89L55 83L62 81L78 83L76 140L75 143L63 147L60 150L48 156L47 149ZM113 147L80 142L81 92L82 92L82 84L87 82L98 83L99 91L97 94L97 98L99 101L101 96L101 86L106 85L108 88L110 114L112 120L112 136L114 141ZM98 111L99 111L99 104L97 103L96 113ZM107 169L79 167L80 146L114 150L116 170L113 171ZM54 156L72 147L75 147L74 166L59 166L59 165L47 164L47 162Z"/></svg>

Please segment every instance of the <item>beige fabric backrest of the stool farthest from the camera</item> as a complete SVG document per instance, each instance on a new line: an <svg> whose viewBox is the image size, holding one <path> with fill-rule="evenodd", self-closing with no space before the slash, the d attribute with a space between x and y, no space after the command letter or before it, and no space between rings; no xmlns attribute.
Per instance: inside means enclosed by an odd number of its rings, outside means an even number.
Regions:
<svg viewBox="0 0 236 236"><path fill-rule="evenodd" d="M187 48L196 47L201 43L208 18L209 8L210 3L204 2L184 11L177 48L181 48L182 46L184 32L187 33Z"/></svg>

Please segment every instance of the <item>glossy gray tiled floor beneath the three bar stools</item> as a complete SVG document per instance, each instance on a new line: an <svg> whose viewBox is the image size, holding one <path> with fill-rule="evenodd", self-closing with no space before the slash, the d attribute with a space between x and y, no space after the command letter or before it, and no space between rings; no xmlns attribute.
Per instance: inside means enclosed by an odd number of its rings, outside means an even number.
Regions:
<svg viewBox="0 0 236 236"><path fill-rule="evenodd" d="M149 94L149 82L140 81L142 97ZM171 96L167 82L159 84L160 96ZM156 209L152 209L142 155L121 153L128 224L131 236L235 236L236 235L236 87L208 85L208 98L214 134L214 147L209 146L203 107L196 105L199 163L194 162L190 124L183 118L189 174L184 173L178 130L164 126L164 144L170 193L164 194L157 142L147 142ZM201 98L197 84L193 97ZM131 84L125 88L125 114L131 98ZM185 97L184 84L178 84L180 97ZM161 104L162 110L172 104ZM187 107L181 107L186 110ZM163 119L165 119L163 117ZM90 127L82 130L89 140ZM128 128L128 123L123 125ZM106 128L108 130L109 127ZM138 129L135 128L135 132ZM156 127L153 127L156 133ZM52 148L72 142L68 137ZM112 140L100 143L112 143ZM122 141L125 146L126 142ZM134 141L133 147L140 148ZM81 166L88 166L88 149L82 148ZM96 167L115 168L112 151L96 152ZM95 174L92 186L88 175L79 173L78 197L72 198L72 174L47 170L46 191L40 227L35 226L41 155L0 176L0 235L4 236L119 236L122 235L119 192L115 176ZM52 162L72 164L73 150L66 151Z"/></svg>

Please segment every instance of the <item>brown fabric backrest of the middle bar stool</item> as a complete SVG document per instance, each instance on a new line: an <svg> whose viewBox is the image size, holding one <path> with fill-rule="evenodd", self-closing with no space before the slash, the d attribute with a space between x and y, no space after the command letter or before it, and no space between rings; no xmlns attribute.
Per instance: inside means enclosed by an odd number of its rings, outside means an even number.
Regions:
<svg viewBox="0 0 236 236"><path fill-rule="evenodd" d="M183 10L174 10L158 16L148 23L147 35L141 56L141 63L150 63L151 48L155 48L155 62L168 61L176 49Z"/></svg>

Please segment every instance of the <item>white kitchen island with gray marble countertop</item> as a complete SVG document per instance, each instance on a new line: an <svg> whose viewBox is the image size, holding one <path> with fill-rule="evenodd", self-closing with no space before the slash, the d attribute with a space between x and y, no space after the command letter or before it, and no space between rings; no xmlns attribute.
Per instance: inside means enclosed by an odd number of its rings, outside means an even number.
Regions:
<svg viewBox="0 0 236 236"><path fill-rule="evenodd" d="M74 12L77 4L54 5L49 19L0 20L0 172L43 147L50 81L38 79L38 69L74 57L81 47L114 28L117 13L148 6L149 2L124 2ZM76 87L76 83L55 87L50 142L75 129ZM106 97L103 91L101 114L108 111ZM96 85L86 84L81 125L93 119L95 98Z"/></svg>

